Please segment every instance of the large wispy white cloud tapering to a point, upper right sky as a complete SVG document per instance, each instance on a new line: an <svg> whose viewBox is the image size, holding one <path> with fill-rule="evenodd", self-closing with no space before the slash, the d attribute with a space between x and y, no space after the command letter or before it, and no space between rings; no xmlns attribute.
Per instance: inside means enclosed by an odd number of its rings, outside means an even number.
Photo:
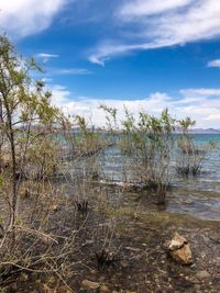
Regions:
<svg viewBox="0 0 220 293"><path fill-rule="evenodd" d="M220 36L220 1L217 0L130 0L117 18L116 37L102 41L90 61L133 50L152 49ZM120 40L120 41L119 41Z"/></svg>

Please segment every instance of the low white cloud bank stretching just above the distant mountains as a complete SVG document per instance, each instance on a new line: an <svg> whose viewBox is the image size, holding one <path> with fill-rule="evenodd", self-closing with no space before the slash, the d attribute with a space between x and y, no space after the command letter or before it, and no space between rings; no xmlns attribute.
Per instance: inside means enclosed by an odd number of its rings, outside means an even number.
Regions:
<svg viewBox="0 0 220 293"><path fill-rule="evenodd" d="M134 116L139 116L140 111L146 111L153 115L158 115L165 108L176 119L190 116L197 121L197 127L220 128L220 89L219 95L204 95L205 89L195 89L197 95L191 95L191 90L182 90L180 98L169 97L167 93L155 92L145 99L138 100L116 100L116 99L96 99L89 97L80 97L74 99L72 93L64 87L54 86L52 88L54 98L53 102L66 114L84 115L91 119L97 126L103 126L106 123L106 114L99 109L100 104L106 104L118 109L119 119L124 116L124 106L127 106ZM199 95L199 92L201 93ZM207 91L208 92L208 91Z"/></svg>

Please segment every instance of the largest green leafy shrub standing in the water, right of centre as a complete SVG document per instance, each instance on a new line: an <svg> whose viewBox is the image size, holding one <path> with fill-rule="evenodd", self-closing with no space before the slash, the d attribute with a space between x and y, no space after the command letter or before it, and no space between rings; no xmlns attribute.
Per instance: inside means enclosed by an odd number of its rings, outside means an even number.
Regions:
<svg viewBox="0 0 220 293"><path fill-rule="evenodd" d="M175 120L164 110L160 117L141 112L136 122L125 110L122 126L120 146L131 157L138 180L156 194L157 203L164 203L170 183Z"/></svg>

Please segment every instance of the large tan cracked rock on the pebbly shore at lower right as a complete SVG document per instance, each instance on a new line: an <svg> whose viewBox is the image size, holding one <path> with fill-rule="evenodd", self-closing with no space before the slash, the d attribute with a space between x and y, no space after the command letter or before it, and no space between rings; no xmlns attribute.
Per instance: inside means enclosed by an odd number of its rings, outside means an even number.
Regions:
<svg viewBox="0 0 220 293"><path fill-rule="evenodd" d="M191 264L194 262L191 249L187 239L178 233L167 243L167 252L178 263Z"/></svg>

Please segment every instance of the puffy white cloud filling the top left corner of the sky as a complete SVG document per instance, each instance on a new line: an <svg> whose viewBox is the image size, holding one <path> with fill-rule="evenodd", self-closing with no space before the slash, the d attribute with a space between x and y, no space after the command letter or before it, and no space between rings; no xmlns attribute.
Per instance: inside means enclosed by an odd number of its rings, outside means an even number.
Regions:
<svg viewBox="0 0 220 293"><path fill-rule="evenodd" d="M47 29L66 0L0 0L0 32L22 37Z"/></svg>

